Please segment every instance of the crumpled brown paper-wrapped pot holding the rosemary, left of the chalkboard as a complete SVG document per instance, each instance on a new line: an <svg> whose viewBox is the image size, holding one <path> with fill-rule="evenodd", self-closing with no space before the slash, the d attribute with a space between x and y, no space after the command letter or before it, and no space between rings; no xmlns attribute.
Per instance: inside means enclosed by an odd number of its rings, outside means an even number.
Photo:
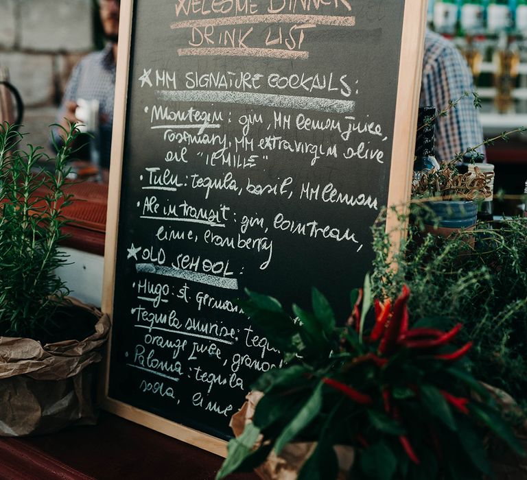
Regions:
<svg viewBox="0 0 527 480"><path fill-rule="evenodd" d="M110 319L94 307L69 300L94 315L93 335L45 346L28 338L0 337L0 436L95 423L93 387Z"/></svg>

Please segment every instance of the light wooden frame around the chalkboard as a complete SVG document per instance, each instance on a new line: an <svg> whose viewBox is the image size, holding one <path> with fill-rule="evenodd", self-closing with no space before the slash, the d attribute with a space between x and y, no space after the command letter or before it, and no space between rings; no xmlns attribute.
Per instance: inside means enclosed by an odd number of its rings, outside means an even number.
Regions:
<svg viewBox="0 0 527 480"><path fill-rule="evenodd" d="M121 25L119 27L120 41L117 61L117 83L115 88L116 94L113 123L113 144L110 168L110 189L108 195L108 220L106 227L106 247L103 283L104 293L102 304L103 311L108 313L110 317L112 317L113 322L115 322L115 316L117 312L119 312L119 302L123 300L121 295L116 294L116 278L118 276L117 269L119 267L119 254L122 254L121 250L123 250L123 245L119 244L119 235L121 235L121 237L124 237L126 235L125 232L119 230L120 228L123 228L121 208L124 208L123 204L126 201L128 201L128 206L132 208L132 204L130 204L129 202L130 199L126 197L128 190L124 189L126 183L124 183L125 180L123 172L124 169L130 169L128 156L132 155L130 153L130 149L126 149L125 137L128 128L128 115L130 115L131 108L130 104L128 104L131 88L129 77L131 62L133 60L133 56L131 55L131 48L134 43L134 5L137 3L141 3L140 0L121 1ZM182 2L180 1L179 3L181 4ZM342 1L342 3L349 5L347 1ZM353 3L353 1L351 3ZM423 38L425 31L426 3L426 0L407 0L403 8L401 8L401 10L403 10L401 16L402 29L400 37L401 43L399 62L397 63L397 100L395 106L395 117L392 117L395 120L393 121L392 135L392 138L394 140L390 150L391 164L389 173L388 195L386 202L386 204L388 205L403 205L408 202L408 198L410 196L410 178L412 173L411 160L413 158L414 153L415 125L417 122L417 105L419 99L419 79L421 77L421 64L423 58ZM266 16L268 17L269 15L263 15L261 17L263 18ZM309 20L313 21L313 16L310 17L311 18ZM268 22L268 19L264 19L263 21ZM155 25L154 28L156 28ZM196 49L192 50L194 51L194 53L191 52L189 54L201 54L199 52L196 53ZM267 49L253 50L256 52L255 55L267 55L267 53L261 53L261 51ZM235 53L235 55L239 54L240 53ZM182 55L182 53L180 53L180 55ZM146 74L146 70L144 72ZM134 78L134 80L137 81L137 78ZM145 81L149 82L150 79L143 77L143 84ZM331 87L331 79L329 83ZM183 101L185 101L185 99L183 99ZM145 112L146 111L147 109L145 108ZM124 160L124 158L126 158L126 160ZM132 164L131 168L133 169L133 167L134 165ZM124 191L125 193L123 193ZM123 197L123 195L125 196ZM137 202L137 206L139 207L139 202ZM397 219L395 218L395 215L388 215L388 220L386 222L386 230L388 232L393 232L394 230L397 230L395 228L396 224ZM128 259L130 259L130 256L134 255L134 252L135 254L137 254L137 251L137 248L136 250L134 250L134 244L132 243L131 248L128 249ZM119 326L118 322L113 326L114 331L116 325ZM150 325L150 328L152 328L152 325ZM119 338L122 339L122 337ZM122 416L124 418L127 418L128 420L132 420L133 422L137 422L146 427L150 427L152 429L175 437L179 440L183 440L184 442L188 442L189 444L193 444L200 448L204 448L205 450L211 451L217 455L225 456L225 435L223 435L223 437L219 437L218 435L214 434L214 431L212 431L212 433L211 431L202 431L202 429L199 427L199 424L198 428L196 428L194 427L195 423L192 422L192 426L188 426L186 424L187 422L185 421L185 418L180 419L178 421L170 420L166 418L165 414L163 413L163 409L154 409L154 411L148 411L148 408L137 407L137 405L131 405L131 402L126 401L126 399L116 398L116 396L119 396L120 394L113 394L112 382L115 381L115 378L117 378L117 374L114 374L113 379L111 372L113 365L115 365L116 361L119 361L120 358L117 354L115 354L115 350L121 348L119 344L119 338L116 340L115 335L110 335L110 340L108 341L108 355L106 356L105 360L105 377L104 381L102 382L100 391L102 407L112 413L117 414L118 416ZM247 334L247 344L248 339L249 336ZM253 341L253 346L256 346L255 342L258 341L257 339L258 337L251 337L251 341ZM259 341L261 344L261 339ZM128 352L125 353L126 357L128 357ZM212 352L212 354L213 353L214 352ZM212 354L209 351L209 355ZM262 353L262 358L263 356L264 354ZM144 366L138 366L137 368L143 368L143 370L148 370L147 368L144 368ZM197 374L196 378L198 378ZM157 389L157 391L159 392L159 385L157 385L157 387L152 387L151 384L149 385L150 390L154 388ZM163 384L161 383L161 392L162 389ZM115 390L115 392L117 391L118 389Z"/></svg>

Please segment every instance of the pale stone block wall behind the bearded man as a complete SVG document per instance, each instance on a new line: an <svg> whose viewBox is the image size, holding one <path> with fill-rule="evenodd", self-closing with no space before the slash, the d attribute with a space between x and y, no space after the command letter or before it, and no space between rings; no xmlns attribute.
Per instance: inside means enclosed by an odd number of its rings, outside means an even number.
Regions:
<svg viewBox="0 0 527 480"><path fill-rule="evenodd" d="M73 65L93 49L92 0L0 0L0 66L26 112L28 141L47 145Z"/></svg>

